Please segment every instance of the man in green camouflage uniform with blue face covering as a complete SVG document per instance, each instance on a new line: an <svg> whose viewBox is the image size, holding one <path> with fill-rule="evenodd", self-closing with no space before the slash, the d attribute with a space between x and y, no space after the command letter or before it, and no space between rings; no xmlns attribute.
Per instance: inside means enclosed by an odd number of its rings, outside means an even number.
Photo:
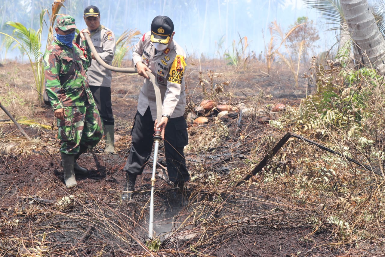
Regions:
<svg viewBox="0 0 385 257"><path fill-rule="evenodd" d="M76 25L70 15L61 15L56 22L57 36L43 57L45 91L58 119L65 185L72 188L77 185L75 174L88 173L76 160L99 142L102 124L85 73L91 62L87 42L82 47L73 43ZM88 30L80 32L82 39L83 32Z"/></svg>

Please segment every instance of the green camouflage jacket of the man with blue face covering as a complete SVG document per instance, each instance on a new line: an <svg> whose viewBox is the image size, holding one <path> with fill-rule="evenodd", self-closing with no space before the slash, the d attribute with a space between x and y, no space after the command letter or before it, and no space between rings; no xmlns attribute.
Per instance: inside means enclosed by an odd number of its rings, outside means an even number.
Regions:
<svg viewBox="0 0 385 257"><path fill-rule="evenodd" d="M82 106L94 103L85 73L91 62L91 50L84 41L84 49L73 44L76 63L73 74L67 81L60 84L60 78L65 76L72 66L72 49L57 39L48 47L44 54L45 91L54 110L68 106Z"/></svg>

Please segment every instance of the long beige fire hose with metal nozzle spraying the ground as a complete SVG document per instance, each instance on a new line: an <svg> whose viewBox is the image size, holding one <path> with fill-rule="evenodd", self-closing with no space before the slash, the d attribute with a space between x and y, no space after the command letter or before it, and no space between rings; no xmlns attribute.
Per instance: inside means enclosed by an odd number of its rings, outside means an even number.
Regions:
<svg viewBox="0 0 385 257"><path fill-rule="evenodd" d="M79 35L80 36L80 35ZM105 63L102 58L99 56L98 52L96 51L94 44L92 44L92 40L88 33L84 33L85 40L87 40L87 43L91 49L91 52L94 54L95 60L104 68L109 69L111 71L115 72L121 72L121 73L137 73L136 68L119 68L111 66L107 63ZM76 39L79 40L79 37ZM152 85L154 86L155 91L155 97L156 97L156 118L158 122L160 122L162 118L162 99L161 99L161 91L159 90L159 85L156 82L154 74L152 74L149 71L146 71L147 76L149 76L150 81L152 82ZM149 229L148 229L148 237L150 239L154 236L153 231L153 224L154 224L154 186L155 186L155 171L156 171L156 162L157 162L157 156L158 156L158 150L159 150L159 142L162 140L161 136L161 130L157 129L154 134L154 162L152 166L152 178L151 178L151 199L150 199L150 218L149 218Z"/></svg>

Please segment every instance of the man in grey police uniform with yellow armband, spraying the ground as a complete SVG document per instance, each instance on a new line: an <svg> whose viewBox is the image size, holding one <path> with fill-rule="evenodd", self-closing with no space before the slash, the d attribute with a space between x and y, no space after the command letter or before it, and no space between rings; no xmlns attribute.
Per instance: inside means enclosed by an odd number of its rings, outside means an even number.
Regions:
<svg viewBox="0 0 385 257"><path fill-rule="evenodd" d="M155 128L162 131L170 181L182 191L189 180L183 148L187 145L187 124L184 119L186 90L183 75L186 71L186 54L174 40L174 24L167 16L152 20L151 31L145 33L136 44L132 59L138 74L144 77L139 94L137 113L132 128L130 154L123 170L126 184L122 199L131 199L136 177L142 174L151 155ZM154 87L146 71L157 79L162 98L162 118L156 120ZM167 127L166 127L167 125Z"/></svg>

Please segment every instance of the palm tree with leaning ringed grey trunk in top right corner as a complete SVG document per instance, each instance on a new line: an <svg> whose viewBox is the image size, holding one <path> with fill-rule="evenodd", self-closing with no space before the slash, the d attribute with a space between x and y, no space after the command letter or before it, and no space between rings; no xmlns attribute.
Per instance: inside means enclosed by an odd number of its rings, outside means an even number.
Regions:
<svg viewBox="0 0 385 257"><path fill-rule="evenodd" d="M377 7L374 5L370 7L367 0L303 1L308 7L319 10L330 24L335 25L332 29L341 30L340 49L345 42L352 39L355 59L364 65L375 64L381 73L385 72L385 64L383 64L385 40L378 29L384 28L384 21L379 18L381 17L379 6L383 4L378 4L377 1Z"/></svg>

